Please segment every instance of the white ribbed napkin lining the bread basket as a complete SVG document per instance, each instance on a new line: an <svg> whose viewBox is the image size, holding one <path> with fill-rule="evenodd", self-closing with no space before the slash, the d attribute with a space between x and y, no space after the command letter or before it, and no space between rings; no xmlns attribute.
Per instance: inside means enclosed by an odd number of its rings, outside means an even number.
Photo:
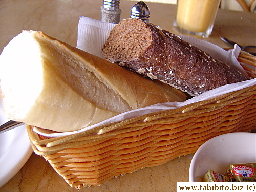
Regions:
<svg viewBox="0 0 256 192"><path fill-rule="evenodd" d="M115 25L116 24L112 24L112 23L103 23L103 22L100 22L99 20L95 20L88 17L80 17L79 24L78 24L77 48L103 58L102 47L109 36L109 32ZM236 69L240 71L242 74L247 76L246 72L244 71L240 63L237 61L237 57L240 53L240 48L238 46L235 46L234 49L232 50L225 51L224 49L204 40L196 39L189 36L180 36L180 37L183 40L189 42L190 44L193 44L196 47L200 48L201 50L207 52L212 57L227 63L228 65L230 65L231 68ZM39 129L36 127L34 128L34 131L46 137L59 137L59 136L70 135L70 134L92 129L93 127L97 127L103 124L122 121L125 119L141 116L151 112L180 108L181 106L184 106L190 103L215 98L219 95L229 93L232 91L238 91L240 89L243 89L255 84L256 84L256 79L251 79L251 80L233 83L233 84L227 84L225 86L222 86L214 90L205 92L201 95L195 96L185 102L159 103L152 106L147 106L146 108L140 108L140 109L128 111L78 131L54 133L50 130Z"/></svg>

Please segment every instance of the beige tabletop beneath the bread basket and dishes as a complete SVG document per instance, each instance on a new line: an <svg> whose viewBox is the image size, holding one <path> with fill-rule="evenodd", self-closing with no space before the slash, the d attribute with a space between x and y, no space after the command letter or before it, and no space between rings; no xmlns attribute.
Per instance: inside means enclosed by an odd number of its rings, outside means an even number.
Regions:
<svg viewBox="0 0 256 192"><path fill-rule="evenodd" d="M134 1L121 0L121 18L130 17ZM79 16L100 18L102 0L19 0L0 1L0 52L17 34L26 30L40 30L52 37L76 46ZM178 34L173 29L175 5L146 3L150 8L150 22ZM222 48L228 46L220 36L241 45L256 46L256 14L219 10L212 35L205 39ZM189 181L189 165L193 154L163 165L144 168L113 178L100 186L79 191L176 191L176 182ZM4 165L1 165L4 166ZM43 158L32 153L27 163L4 186L4 191L77 191L71 188Z"/></svg>

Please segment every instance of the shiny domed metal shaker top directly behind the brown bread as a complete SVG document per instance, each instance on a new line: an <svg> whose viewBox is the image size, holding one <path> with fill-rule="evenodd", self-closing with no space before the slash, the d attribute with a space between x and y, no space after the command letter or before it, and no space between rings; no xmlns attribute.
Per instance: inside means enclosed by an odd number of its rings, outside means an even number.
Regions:
<svg viewBox="0 0 256 192"><path fill-rule="evenodd" d="M139 18L148 22L150 19L150 9L148 9L144 2L140 1L132 7L130 18Z"/></svg>

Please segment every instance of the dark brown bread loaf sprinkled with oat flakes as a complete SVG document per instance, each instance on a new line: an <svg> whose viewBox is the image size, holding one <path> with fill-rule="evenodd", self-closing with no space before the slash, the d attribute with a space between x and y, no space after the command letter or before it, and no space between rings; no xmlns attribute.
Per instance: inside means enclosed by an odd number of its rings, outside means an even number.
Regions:
<svg viewBox="0 0 256 192"><path fill-rule="evenodd" d="M247 80L178 36L140 19L125 19L117 24L102 51L107 60L192 96Z"/></svg>

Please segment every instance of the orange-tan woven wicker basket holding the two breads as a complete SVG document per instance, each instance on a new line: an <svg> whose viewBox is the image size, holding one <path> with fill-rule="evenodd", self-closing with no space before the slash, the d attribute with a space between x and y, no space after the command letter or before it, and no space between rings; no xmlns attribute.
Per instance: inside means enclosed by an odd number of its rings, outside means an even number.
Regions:
<svg viewBox="0 0 256 192"><path fill-rule="evenodd" d="M256 63L244 52L238 60ZM255 78L255 70L245 69ZM44 138L26 127L34 152L79 189L195 153L212 137L256 129L256 85L70 136Z"/></svg>

